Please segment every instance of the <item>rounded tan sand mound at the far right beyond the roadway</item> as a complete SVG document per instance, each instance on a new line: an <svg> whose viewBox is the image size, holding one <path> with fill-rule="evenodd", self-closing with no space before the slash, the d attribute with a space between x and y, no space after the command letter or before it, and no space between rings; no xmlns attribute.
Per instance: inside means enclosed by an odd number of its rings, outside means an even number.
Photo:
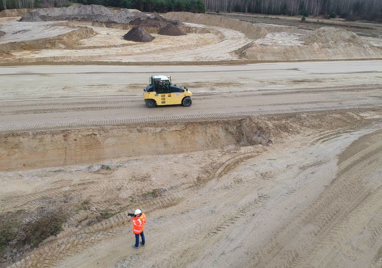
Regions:
<svg viewBox="0 0 382 268"><path fill-rule="evenodd" d="M351 45L368 46L364 40L354 34L343 29L335 27L321 27L311 32L304 38L305 44L312 45L314 43L323 44L325 46L335 46L337 43L347 43Z"/></svg>

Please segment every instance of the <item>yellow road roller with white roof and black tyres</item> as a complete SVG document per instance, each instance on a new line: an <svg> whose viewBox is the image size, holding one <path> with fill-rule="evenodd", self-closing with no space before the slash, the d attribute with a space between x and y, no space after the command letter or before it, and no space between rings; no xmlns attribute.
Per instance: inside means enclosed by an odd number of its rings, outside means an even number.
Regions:
<svg viewBox="0 0 382 268"><path fill-rule="evenodd" d="M182 104L189 107L192 104L192 93L186 87L171 84L171 77L153 75L149 78L149 85L143 90L143 97L148 108L157 105Z"/></svg>

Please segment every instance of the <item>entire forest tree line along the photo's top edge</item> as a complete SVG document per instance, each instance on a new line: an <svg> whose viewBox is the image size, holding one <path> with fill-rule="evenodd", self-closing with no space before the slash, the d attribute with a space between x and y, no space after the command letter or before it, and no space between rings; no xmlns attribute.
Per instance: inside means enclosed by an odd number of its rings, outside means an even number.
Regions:
<svg viewBox="0 0 382 268"><path fill-rule="evenodd" d="M188 11L259 13L265 15L339 15L348 20L382 19L382 0L72 0L85 5L135 8L148 12ZM69 0L0 0L0 10L69 6Z"/></svg>

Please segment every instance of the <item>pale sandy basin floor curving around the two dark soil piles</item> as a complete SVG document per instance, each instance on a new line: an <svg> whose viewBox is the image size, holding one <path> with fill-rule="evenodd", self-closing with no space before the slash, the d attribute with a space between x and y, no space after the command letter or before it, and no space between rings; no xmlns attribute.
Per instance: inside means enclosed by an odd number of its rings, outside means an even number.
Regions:
<svg viewBox="0 0 382 268"><path fill-rule="evenodd" d="M191 25L190 25L191 26ZM7 61L220 61L237 60L233 52L251 42L238 31L208 27L211 33L189 33L186 36L152 34L152 42L137 43L122 37L128 29L92 27L97 36L82 40L78 49L45 49L13 52ZM198 25L198 27L203 27Z"/></svg>

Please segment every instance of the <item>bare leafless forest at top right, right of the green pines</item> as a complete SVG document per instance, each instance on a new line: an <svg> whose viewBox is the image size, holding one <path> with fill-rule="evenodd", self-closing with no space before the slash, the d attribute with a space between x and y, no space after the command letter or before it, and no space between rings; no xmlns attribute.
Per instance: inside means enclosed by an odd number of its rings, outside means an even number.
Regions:
<svg viewBox="0 0 382 268"><path fill-rule="evenodd" d="M204 0L207 10L269 15L381 16L382 0Z"/></svg>

